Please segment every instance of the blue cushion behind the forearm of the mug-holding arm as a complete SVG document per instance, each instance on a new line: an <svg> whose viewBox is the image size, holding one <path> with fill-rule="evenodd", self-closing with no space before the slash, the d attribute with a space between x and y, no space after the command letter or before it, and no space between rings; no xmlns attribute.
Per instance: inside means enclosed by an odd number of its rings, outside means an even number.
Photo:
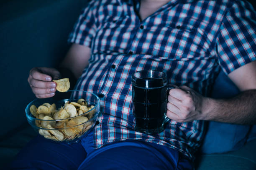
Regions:
<svg viewBox="0 0 256 170"><path fill-rule="evenodd" d="M239 93L238 88L223 71L218 75L213 87L213 98L228 98ZM207 124L208 123L208 124ZM221 122L206 122L207 133L201 147L202 153L225 153L241 148L247 140L251 126ZM253 136L253 134L251 134Z"/></svg>

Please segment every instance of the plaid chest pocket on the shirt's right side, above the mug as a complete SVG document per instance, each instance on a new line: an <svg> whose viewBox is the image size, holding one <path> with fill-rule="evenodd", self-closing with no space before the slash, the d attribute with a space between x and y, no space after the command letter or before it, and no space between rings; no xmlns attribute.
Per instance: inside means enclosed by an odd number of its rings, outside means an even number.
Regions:
<svg viewBox="0 0 256 170"><path fill-rule="evenodd" d="M203 42L195 40L197 34L197 28L192 25L166 25L153 45L154 60L191 60L199 57ZM200 37L203 39L203 36Z"/></svg>

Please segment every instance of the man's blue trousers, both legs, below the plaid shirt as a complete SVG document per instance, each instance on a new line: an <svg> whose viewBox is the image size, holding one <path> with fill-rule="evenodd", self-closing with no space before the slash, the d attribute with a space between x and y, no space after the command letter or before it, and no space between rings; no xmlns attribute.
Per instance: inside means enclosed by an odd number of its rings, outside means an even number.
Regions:
<svg viewBox="0 0 256 170"><path fill-rule="evenodd" d="M92 133L81 143L31 140L10 165L11 170L192 170L177 150L154 143L124 141L93 149Z"/></svg>

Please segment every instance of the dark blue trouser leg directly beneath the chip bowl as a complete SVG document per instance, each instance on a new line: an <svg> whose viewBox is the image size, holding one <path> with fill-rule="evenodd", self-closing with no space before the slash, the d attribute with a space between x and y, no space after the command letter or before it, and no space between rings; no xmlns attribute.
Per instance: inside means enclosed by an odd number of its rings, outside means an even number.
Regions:
<svg viewBox="0 0 256 170"><path fill-rule="evenodd" d="M11 170L77 170L86 158L81 143L53 143L42 136L31 140L15 157Z"/></svg>

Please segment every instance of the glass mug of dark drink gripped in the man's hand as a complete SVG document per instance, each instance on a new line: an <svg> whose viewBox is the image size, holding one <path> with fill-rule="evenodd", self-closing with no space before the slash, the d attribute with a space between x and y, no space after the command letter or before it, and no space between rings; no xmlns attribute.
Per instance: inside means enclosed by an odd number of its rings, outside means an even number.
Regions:
<svg viewBox="0 0 256 170"><path fill-rule="evenodd" d="M156 70L141 70L132 75L135 130L154 134L164 130L167 107L167 75Z"/></svg>

